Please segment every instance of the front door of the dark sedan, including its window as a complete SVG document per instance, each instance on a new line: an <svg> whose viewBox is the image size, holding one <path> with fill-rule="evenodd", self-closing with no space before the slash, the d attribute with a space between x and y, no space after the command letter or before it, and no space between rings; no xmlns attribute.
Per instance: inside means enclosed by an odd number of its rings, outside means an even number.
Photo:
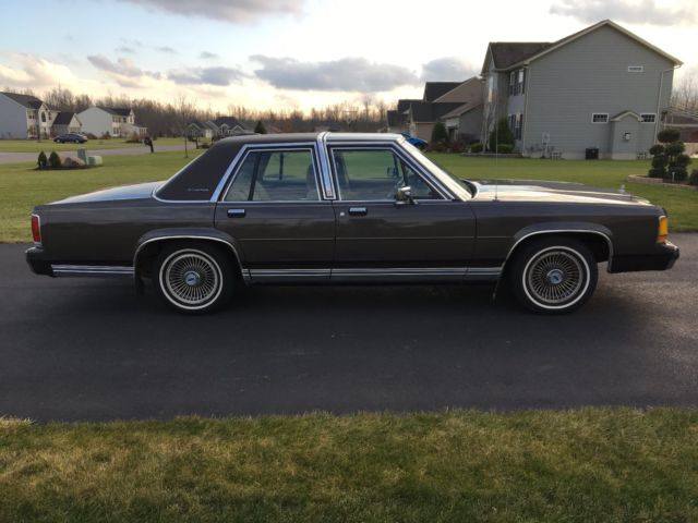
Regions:
<svg viewBox="0 0 698 523"><path fill-rule="evenodd" d="M459 280L476 235L467 202L437 187L395 146L335 146L336 280ZM412 202L397 202L410 186Z"/></svg>

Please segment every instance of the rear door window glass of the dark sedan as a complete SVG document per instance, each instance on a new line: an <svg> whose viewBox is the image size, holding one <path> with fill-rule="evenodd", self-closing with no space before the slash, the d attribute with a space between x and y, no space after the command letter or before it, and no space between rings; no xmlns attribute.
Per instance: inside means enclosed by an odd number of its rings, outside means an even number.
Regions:
<svg viewBox="0 0 698 523"><path fill-rule="evenodd" d="M226 202L317 202L310 150L253 151L238 169Z"/></svg>

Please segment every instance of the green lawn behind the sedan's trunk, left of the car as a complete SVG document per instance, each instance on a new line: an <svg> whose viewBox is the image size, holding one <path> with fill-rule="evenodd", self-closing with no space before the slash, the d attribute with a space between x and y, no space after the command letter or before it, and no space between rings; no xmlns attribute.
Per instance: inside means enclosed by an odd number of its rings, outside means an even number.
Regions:
<svg viewBox="0 0 698 523"><path fill-rule="evenodd" d="M98 188L166 180L190 159L182 151L108 156L105 165L73 171L36 171L27 163L0 165L0 242L31 241L29 214L38 204Z"/></svg>

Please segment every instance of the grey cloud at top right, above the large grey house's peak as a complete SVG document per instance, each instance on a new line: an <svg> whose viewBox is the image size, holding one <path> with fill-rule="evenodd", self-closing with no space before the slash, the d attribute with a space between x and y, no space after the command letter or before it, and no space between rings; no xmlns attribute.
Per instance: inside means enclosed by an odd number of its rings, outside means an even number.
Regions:
<svg viewBox="0 0 698 523"><path fill-rule="evenodd" d="M571 16L586 24L611 19L637 25L677 25L698 22L698 10L663 8L654 0L558 0L550 8L552 14ZM675 2L681 5L681 2Z"/></svg>

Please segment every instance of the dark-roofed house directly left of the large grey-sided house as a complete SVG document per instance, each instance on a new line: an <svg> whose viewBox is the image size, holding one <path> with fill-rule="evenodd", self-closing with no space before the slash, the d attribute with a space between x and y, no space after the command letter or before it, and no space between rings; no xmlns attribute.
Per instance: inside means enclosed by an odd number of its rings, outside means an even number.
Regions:
<svg viewBox="0 0 698 523"><path fill-rule="evenodd" d="M442 121L447 122L452 139L472 142L482 126L479 119L482 111L476 110L481 106L482 84L478 77L465 82L426 82L421 100L398 100L397 109L387 111L388 132L409 132L429 142L434 124Z"/></svg>

